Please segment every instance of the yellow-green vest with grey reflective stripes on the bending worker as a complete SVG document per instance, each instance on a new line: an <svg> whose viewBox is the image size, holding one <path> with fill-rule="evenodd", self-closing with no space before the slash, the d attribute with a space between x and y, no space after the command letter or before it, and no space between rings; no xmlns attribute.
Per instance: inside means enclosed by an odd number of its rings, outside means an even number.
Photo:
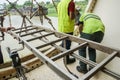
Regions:
<svg viewBox="0 0 120 80"><path fill-rule="evenodd" d="M84 13L80 17L80 21L83 22L83 33L92 34L94 32L102 31L104 33L105 27L100 17L93 13Z"/></svg>

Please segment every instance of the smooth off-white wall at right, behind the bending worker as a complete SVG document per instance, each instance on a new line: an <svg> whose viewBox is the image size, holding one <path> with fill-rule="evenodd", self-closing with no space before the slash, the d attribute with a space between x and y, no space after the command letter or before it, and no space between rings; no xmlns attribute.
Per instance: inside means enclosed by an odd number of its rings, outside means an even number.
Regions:
<svg viewBox="0 0 120 80"><path fill-rule="evenodd" d="M105 36L102 41L103 45L117 48L120 50L120 0L97 0L97 4L93 10L98 14L105 24ZM101 62L107 54L98 52L97 61ZM120 74L120 58L115 58L106 67L118 74ZM103 74L99 74L99 77ZM104 75L105 77L105 75ZM97 79L98 80L98 79ZM101 79L100 79L101 80ZM108 77L102 79L108 80ZM114 80L109 77L109 80Z"/></svg>

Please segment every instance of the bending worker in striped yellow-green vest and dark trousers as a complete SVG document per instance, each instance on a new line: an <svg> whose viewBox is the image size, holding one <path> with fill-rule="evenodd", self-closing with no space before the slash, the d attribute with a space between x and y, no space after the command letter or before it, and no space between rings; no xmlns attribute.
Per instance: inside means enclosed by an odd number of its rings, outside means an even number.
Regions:
<svg viewBox="0 0 120 80"><path fill-rule="evenodd" d="M100 17L96 14L84 13L83 15L81 15L80 22L77 25L79 25L81 38L85 38L98 43L100 43L103 40L105 27ZM79 55L86 58L86 49L87 47L81 48L79 50ZM95 49L88 47L88 55L89 60L96 62ZM77 66L76 69L79 72L87 73L87 64L83 63L82 61L80 61L79 64L80 66ZM89 66L88 69L91 70L92 67Z"/></svg>

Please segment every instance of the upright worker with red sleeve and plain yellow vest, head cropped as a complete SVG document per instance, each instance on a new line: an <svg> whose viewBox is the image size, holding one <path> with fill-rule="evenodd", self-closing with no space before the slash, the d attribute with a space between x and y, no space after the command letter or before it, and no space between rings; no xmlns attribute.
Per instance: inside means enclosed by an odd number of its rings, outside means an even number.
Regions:
<svg viewBox="0 0 120 80"><path fill-rule="evenodd" d="M73 35L75 24L75 3L73 0L61 0L57 6L58 10L58 31L66 34ZM62 41L62 47L64 47L64 41ZM65 40L66 49L70 49L71 41ZM66 56L66 63L70 64L75 62L75 58Z"/></svg>

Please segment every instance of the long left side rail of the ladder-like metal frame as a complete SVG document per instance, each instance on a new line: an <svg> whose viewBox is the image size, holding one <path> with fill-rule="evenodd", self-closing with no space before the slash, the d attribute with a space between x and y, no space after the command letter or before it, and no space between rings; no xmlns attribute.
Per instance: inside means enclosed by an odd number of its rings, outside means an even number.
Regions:
<svg viewBox="0 0 120 80"><path fill-rule="evenodd" d="M17 36L13 32L11 32L10 34L13 35L13 36L15 36L16 39L21 40L26 45L26 47L35 54L35 56L37 56L43 63L45 63L48 67L50 67L61 78L65 79L65 80L78 80L73 75L71 75L71 74L67 73L66 71L64 71L63 69L59 68L59 66L56 65L55 62L53 62L51 59L49 59L43 53L41 53L40 51L38 51L36 48L34 48L33 46L30 46L27 41L23 40L21 37ZM81 79L79 79L79 80L81 80Z"/></svg>

